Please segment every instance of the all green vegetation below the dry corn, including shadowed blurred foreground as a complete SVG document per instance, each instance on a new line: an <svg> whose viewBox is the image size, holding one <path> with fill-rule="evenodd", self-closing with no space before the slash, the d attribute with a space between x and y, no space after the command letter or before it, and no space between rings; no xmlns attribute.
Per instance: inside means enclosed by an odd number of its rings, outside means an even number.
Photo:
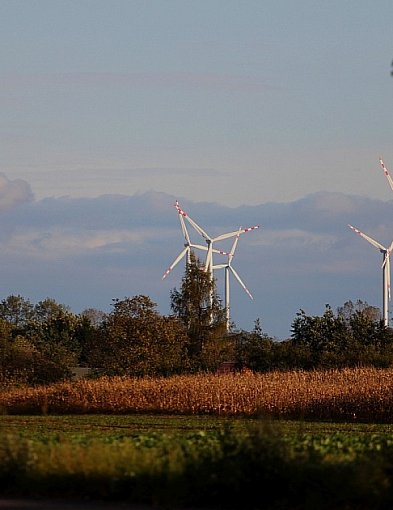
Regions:
<svg viewBox="0 0 393 510"><path fill-rule="evenodd" d="M73 420L78 432L72 434L67 427ZM210 420L206 427L195 420L185 432L184 420L177 418L176 424L168 416L95 420L86 429L91 419L68 417L66 433L59 423L55 435L43 433L43 420L39 433L31 423L20 423L14 433L2 434L3 496L156 508L383 510L392 505L391 430L239 420L226 425ZM156 420L164 430L150 429ZM125 431L122 437L119 429Z"/></svg>

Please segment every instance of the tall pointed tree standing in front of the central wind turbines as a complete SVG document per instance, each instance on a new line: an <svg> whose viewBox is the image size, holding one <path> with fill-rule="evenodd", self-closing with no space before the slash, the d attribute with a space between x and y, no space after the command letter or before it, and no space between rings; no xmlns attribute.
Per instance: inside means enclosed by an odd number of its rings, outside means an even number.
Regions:
<svg viewBox="0 0 393 510"><path fill-rule="evenodd" d="M190 339L190 358L202 368L203 353L210 340L226 334L225 310L217 296L215 281L191 252L180 290L171 291L171 310ZM208 356L210 358L210 356ZM209 364L211 365L210 359Z"/></svg>

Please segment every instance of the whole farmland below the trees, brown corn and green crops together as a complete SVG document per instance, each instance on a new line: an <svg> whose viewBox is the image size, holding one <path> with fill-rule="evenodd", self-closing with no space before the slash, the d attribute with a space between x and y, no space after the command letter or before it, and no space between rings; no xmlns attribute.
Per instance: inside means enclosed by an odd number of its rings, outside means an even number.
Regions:
<svg viewBox="0 0 393 510"><path fill-rule="evenodd" d="M6 389L0 490L169 509L391 509L392 378L359 369Z"/></svg>

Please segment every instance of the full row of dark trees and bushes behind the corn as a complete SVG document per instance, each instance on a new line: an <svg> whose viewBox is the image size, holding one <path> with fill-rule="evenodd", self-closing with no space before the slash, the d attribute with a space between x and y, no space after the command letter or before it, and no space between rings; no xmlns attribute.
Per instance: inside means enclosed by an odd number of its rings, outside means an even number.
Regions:
<svg viewBox="0 0 393 510"><path fill-rule="evenodd" d="M50 298L8 296L0 302L0 383L60 381L75 366L92 376L166 377L214 372L227 361L253 371L393 365L393 330L360 300L336 311L326 305L322 316L300 310L284 341L259 319L252 331L227 331L215 282L194 256L170 299L170 315L144 295L114 299L109 313L74 314Z"/></svg>

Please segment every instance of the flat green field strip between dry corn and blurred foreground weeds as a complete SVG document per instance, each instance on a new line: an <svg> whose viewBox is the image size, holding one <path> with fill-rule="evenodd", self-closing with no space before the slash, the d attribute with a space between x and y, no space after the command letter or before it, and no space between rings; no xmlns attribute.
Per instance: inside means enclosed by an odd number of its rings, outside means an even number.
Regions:
<svg viewBox="0 0 393 510"><path fill-rule="evenodd" d="M323 459L354 460L365 452L393 447L391 424L266 421L178 415L0 416L0 437L28 444L133 444L152 447L165 441L215 440L223 431L245 437L258 430L292 454L307 450Z"/></svg>

